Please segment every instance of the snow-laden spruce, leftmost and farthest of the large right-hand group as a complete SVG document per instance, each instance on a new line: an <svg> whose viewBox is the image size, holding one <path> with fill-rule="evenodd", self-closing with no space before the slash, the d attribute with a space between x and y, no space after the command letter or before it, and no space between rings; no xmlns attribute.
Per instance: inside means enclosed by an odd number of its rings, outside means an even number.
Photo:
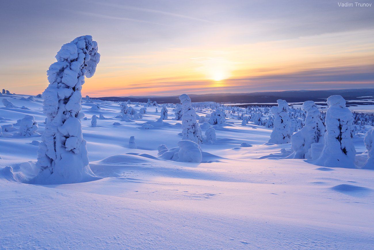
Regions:
<svg viewBox="0 0 374 250"><path fill-rule="evenodd" d="M274 127L269 143L289 143L291 141L291 119L288 115L288 103L281 99L278 99L277 103L278 106L272 106L271 109L274 115Z"/></svg>

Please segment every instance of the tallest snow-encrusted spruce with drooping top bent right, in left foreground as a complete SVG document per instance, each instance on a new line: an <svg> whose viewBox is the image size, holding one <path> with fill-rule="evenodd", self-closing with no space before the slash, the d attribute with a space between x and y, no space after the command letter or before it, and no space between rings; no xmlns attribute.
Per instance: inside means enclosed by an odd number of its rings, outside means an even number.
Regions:
<svg viewBox="0 0 374 250"><path fill-rule="evenodd" d="M95 179L89 167L86 141L80 119L82 85L99 63L100 54L92 36L80 36L62 45L56 62L47 70L49 85L43 92L47 123L39 145L33 183L76 183Z"/></svg>

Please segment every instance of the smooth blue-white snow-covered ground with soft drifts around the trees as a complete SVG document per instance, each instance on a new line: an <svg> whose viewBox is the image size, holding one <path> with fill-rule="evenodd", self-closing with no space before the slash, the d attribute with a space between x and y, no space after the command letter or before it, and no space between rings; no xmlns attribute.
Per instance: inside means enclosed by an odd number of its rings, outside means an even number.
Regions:
<svg viewBox="0 0 374 250"><path fill-rule="evenodd" d="M1 105L3 128L33 115L43 132L43 100L27 97L0 96L0 103L7 99L16 106ZM89 110L96 104L101 110ZM279 159L291 144L265 145L271 129L241 126L232 118L211 126L217 141L201 145L203 163L161 160L159 145L170 149L182 139L172 108L159 126L160 107L157 113L146 107L142 119L121 121L115 118L119 103L84 100L82 106L90 167L101 177L96 181L18 182L38 171L33 141L41 141L40 134L21 136L18 125L3 129L0 249L373 249L373 170ZM91 127L92 115L100 114L105 119ZM140 129L145 122L155 126ZM129 147L131 136L137 149ZM242 142L253 147L240 147ZM357 154L365 151L362 136L354 144Z"/></svg>

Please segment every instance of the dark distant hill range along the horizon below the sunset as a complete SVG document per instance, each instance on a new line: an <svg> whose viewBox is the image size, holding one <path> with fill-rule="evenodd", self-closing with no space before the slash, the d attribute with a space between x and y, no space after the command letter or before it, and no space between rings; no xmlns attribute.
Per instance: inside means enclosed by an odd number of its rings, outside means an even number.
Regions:
<svg viewBox="0 0 374 250"><path fill-rule="evenodd" d="M192 102L219 102L219 103L268 103L284 99L288 103L304 102L312 100L315 102L325 101L331 95L341 95L346 100L372 99L364 96L374 96L374 88L343 89L343 90L287 90L266 91L254 93L218 93L218 94L188 94ZM147 102L148 98L157 103L179 103L178 96L128 96L128 97L98 97L93 99Z"/></svg>

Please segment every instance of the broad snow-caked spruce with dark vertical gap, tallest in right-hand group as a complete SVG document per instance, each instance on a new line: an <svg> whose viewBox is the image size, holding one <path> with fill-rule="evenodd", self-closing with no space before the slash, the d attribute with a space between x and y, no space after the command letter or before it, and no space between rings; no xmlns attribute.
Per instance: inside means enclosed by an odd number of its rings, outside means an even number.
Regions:
<svg viewBox="0 0 374 250"><path fill-rule="evenodd" d="M356 168L353 145L353 116L343 97L327 98L325 145L319 158L312 164L333 168Z"/></svg>

